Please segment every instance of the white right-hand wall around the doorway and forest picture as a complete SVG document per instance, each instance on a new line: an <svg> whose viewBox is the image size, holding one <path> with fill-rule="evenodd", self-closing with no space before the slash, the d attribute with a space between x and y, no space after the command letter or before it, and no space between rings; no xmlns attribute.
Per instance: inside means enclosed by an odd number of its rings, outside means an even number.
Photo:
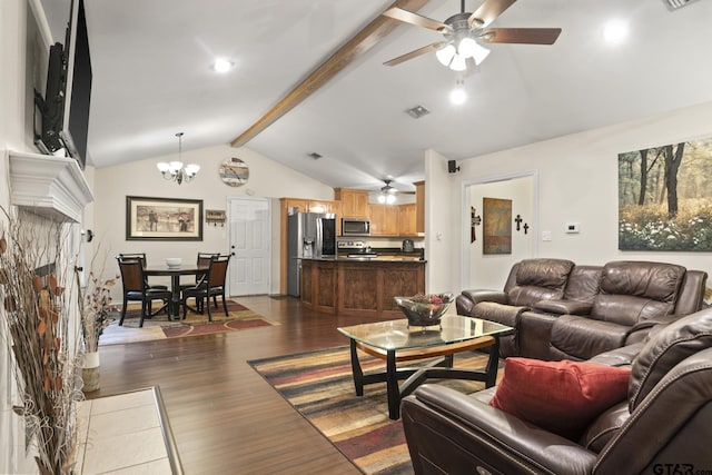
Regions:
<svg viewBox="0 0 712 475"><path fill-rule="evenodd" d="M640 148L673 144L712 136L712 102L590 130L496 154L459 160L461 171L445 178L442 166L428 166L433 154L426 154L426 182L446 185L451 192L426 195L426 209L451 209L462 216L465 182L492 176L536 170L538 174L538 255L561 257L577 264L604 264L609 260L655 260L674 263L690 269L712 273L710 253L641 253L617 249L617 154ZM432 215L432 214L431 214ZM428 215L428 216L431 216ZM581 232L565 232L568 221L581 222ZM463 224L461 221L461 228ZM426 222L431 235L437 231ZM551 231L552 240L542 241L541 232ZM448 235L449 237L449 235ZM462 238L458 246L464 246ZM441 257L445 257L443 254ZM449 275L454 290L461 290L461 269L468 263L461 255L449 260L428 263L428 275ZM501 288L500 276L483 280L488 288Z"/></svg>

